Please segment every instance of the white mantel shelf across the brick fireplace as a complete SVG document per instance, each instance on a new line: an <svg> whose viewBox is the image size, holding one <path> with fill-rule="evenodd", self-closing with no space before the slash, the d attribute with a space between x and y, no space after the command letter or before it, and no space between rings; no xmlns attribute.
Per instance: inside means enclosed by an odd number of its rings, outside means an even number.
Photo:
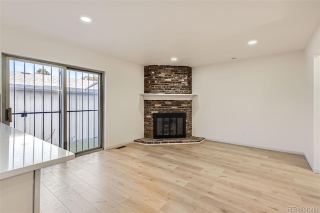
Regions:
<svg viewBox="0 0 320 213"><path fill-rule="evenodd" d="M140 93L144 100L192 100L197 94Z"/></svg>

